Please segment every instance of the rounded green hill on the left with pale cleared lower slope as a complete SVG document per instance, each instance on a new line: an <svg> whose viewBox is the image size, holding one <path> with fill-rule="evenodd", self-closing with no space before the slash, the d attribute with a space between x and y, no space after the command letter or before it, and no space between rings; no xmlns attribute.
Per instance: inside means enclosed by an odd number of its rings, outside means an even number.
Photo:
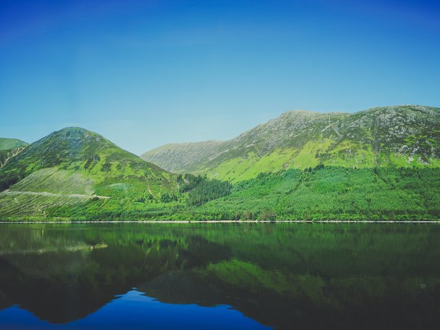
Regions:
<svg viewBox="0 0 440 330"><path fill-rule="evenodd" d="M69 127L8 159L0 188L0 214L45 214L89 199L157 199L175 190L175 178L97 133Z"/></svg>

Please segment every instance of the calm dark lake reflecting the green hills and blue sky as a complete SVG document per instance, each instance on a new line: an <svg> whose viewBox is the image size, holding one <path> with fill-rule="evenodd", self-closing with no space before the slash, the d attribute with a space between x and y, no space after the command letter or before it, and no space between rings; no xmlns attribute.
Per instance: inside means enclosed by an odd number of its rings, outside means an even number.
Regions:
<svg viewBox="0 0 440 330"><path fill-rule="evenodd" d="M0 329L440 329L440 225L2 224Z"/></svg>

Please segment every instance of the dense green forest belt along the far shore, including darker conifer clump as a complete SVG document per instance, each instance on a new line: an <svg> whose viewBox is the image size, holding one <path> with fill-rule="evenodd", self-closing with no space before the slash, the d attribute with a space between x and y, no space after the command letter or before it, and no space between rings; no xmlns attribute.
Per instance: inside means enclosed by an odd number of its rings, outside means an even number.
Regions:
<svg viewBox="0 0 440 330"><path fill-rule="evenodd" d="M232 186L194 175L178 177L177 182L178 192L166 199L90 199L52 206L45 216L97 221L440 218L439 168L318 166L262 173Z"/></svg>

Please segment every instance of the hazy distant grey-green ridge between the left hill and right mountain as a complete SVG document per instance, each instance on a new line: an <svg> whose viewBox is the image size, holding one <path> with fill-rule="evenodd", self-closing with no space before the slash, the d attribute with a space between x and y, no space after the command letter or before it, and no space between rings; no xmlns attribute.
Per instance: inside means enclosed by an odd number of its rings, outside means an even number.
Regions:
<svg viewBox="0 0 440 330"><path fill-rule="evenodd" d="M222 141L204 141L194 143L171 143L147 151L140 157L153 164L161 164L165 170L175 173L185 173L189 168L197 169L200 159L215 155ZM193 166L196 167L194 168Z"/></svg>

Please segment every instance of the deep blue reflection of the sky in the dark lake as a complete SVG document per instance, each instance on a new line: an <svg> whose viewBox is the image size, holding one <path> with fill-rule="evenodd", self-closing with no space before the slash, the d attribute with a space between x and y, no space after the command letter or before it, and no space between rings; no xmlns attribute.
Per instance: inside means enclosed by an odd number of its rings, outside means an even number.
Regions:
<svg viewBox="0 0 440 330"><path fill-rule="evenodd" d="M94 314L67 325L41 322L28 311L12 307L3 311L1 324L8 329L268 329L243 317L229 306L213 308L160 303L135 289L111 300ZM19 320L19 325L17 325Z"/></svg>

